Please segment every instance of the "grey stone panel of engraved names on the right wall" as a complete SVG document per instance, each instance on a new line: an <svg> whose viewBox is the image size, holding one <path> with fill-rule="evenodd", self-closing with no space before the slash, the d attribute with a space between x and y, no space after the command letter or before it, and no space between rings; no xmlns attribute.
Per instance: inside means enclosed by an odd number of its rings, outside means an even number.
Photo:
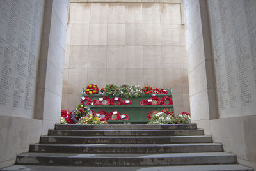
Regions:
<svg viewBox="0 0 256 171"><path fill-rule="evenodd" d="M256 110L256 1L208 1L220 117Z"/></svg>

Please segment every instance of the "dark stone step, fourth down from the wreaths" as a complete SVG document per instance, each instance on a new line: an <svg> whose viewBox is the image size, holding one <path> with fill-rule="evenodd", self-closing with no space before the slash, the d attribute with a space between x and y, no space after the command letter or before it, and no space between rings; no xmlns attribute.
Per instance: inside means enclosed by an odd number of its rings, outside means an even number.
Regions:
<svg viewBox="0 0 256 171"><path fill-rule="evenodd" d="M187 153L222 152L222 144L31 144L30 152L46 153Z"/></svg>

